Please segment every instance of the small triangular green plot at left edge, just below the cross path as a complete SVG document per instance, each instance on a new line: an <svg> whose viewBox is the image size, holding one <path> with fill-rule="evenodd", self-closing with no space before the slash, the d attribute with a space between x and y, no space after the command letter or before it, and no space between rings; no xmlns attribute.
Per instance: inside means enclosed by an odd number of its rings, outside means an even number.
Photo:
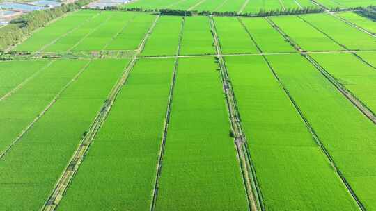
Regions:
<svg viewBox="0 0 376 211"><path fill-rule="evenodd" d="M0 62L0 98L43 69L47 60Z"/></svg>

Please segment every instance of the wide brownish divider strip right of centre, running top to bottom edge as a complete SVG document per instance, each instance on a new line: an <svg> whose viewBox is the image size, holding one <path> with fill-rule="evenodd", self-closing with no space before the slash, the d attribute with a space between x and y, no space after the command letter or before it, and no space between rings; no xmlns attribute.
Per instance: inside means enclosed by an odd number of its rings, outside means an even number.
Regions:
<svg viewBox="0 0 376 211"><path fill-rule="evenodd" d="M210 26L212 28L212 35L214 37L214 45L217 51L217 60L219 62L219 69L221 72L221 81L226 94L226 105L228 108L229 121L234 135L234 144L237 151L237 159L240 165L240 171L242 172L242 179L245 188L246 198L249 204L249 210L264 210L263 199L258 188L258 181L256 177L256 170L253 167L251 157L246 149L246 137L244 136L239 110L237 109L237 103L235 94L228 77L228 71L225 60L221 55L221 45L219 37L217 36L216 26L214 19L210 15Z"/></svg>

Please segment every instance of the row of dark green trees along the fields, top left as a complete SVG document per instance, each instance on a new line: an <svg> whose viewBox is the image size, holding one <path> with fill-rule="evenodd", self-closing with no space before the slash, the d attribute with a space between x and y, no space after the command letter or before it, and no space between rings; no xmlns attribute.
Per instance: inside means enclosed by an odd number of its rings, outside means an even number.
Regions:
<svg viewBox="0 0 376 211"><path fill-rule="evenodd" d="M62 4L56 8L36 10L11 20L8 25L0 28L0 50L4 50L10 45L16 44L37 28L45 26L45 24L56 17L64 15L66 12L81 8L90 3L90 1L91 0L78 0L75 1L75 3Z"/></svg>

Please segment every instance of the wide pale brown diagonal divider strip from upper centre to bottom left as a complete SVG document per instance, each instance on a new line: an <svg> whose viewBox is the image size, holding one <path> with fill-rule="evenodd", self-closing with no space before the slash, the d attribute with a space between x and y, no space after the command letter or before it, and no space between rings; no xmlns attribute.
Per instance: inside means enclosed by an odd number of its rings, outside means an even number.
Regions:
<svg viewBox="0 0 376 211"><path fill-rule="evenodd" d="M97 112L97 115L91 123L91 126L88 127L88 130L86 131L84 137L82 137L77 150L75 151L75 153L73 153L72 157L70 158L70 161L65 167L65 170L61 174L60 178L54 186L54 189L52 189L52 192L49 194L48 199L45 201L45 204L42 206L40 210L56 210L58 204L60 203L70 183L72 182L72 178L75 176L75 174L77 174L81 162L84 161L84 158L88 153L88 149L91 146L91 143L93 142L95 136L97 135L97 132L100 130L100 128L104 124L104 121L107 119L109 111L111 110L113 103L116 100L116 97L118 96L121 88L125 85L130 71L136 63L136 55L141 52L141 48L143 48L146 40L148 40L148 37L150 36L150 33L152 29L155 27L155 24L157 23L158 19L159 15L153 22L152 26L150 26L149 31L143 37L143 40L139 44L139 49L137 49L137 53L133 56L132 60L125 66L125 70L121 74L116 84L113 86L111 92L109 92L107 100L104 101L102 108L100 108L100 110Z"/></svg>

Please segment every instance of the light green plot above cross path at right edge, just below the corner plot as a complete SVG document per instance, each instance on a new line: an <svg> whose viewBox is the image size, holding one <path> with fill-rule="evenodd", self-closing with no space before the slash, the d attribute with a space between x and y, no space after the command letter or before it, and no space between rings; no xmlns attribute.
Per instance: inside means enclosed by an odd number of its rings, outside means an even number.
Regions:
<svg viewBox="0 0 376 211"><path fill-rule="evenodd" d="M332 39L351 50L376 50L376 37L346 24L342 20L327 13L301 15L306 22L320 29Z"/></svg>

